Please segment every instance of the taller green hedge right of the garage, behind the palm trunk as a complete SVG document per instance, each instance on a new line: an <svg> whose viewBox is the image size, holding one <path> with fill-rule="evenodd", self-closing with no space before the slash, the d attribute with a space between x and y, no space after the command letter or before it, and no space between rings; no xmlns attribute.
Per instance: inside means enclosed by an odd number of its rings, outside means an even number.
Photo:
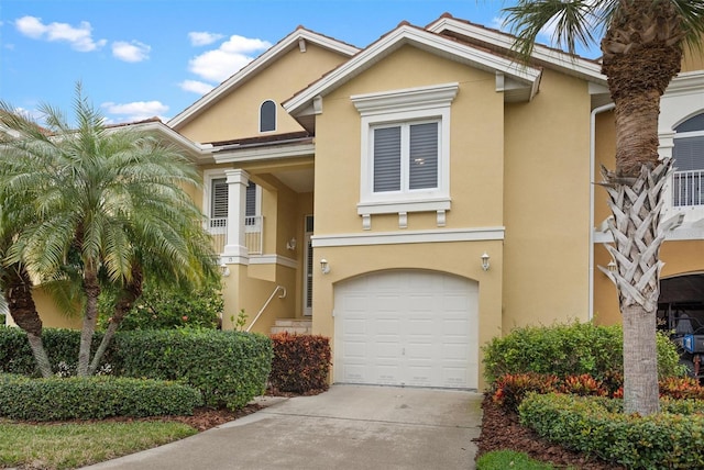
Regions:
<svg viewBox="0 0 704 470"><path fill-rule="evenodd" d="M684 373L676 346L658 333L660 378ZM593 323L526 326L492 339L484 347L485 378L493 383L507 373L550 373L560 378L588 373L597 380L623 374L623 331L620 326Z"/></svg>

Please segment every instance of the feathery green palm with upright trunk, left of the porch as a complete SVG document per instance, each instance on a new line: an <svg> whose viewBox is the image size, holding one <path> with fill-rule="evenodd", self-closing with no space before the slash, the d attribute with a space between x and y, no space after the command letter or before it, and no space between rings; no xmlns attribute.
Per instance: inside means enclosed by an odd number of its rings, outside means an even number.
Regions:
<svg viewBox="0 0 704 470"><path fill-rule="evenodd" d="M87 376L95 370L90 347L101 279L124 288L123 301L131 303L141 294L140 264L158 261L164 278L176 282L215 276L202 214L184 189L199 186L198 174L156 136L106 126L80 85L75 126L46 104L40 109L46 128L0 105L1 123L14 135L0 150L0 195L25 194L34 211L7 259L42 282L79 280L78 374Z"/></svg>

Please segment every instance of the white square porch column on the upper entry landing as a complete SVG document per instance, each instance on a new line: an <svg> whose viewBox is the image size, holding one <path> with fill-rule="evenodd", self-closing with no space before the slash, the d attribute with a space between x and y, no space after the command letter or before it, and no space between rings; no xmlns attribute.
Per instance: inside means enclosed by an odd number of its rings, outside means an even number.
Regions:
<svg viewBox="0 0 704 470"><path fill-rule="evenodd" d="M248 265L250 253L244 239L246 187L250 174L242 169L226 170L228 177L228 238L224 246L227 264Z"/></svg>

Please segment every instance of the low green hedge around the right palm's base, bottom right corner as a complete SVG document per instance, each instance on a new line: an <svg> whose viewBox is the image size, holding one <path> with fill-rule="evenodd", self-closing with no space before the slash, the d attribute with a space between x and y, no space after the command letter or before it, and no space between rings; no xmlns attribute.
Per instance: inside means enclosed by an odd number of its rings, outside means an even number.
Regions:
<svg viewBox="0 0 704 470"><path fill-rule="evenodd" d="M529 393L521 424L580 452L631 469L704 468L704 402L662 400L662 413L623 414L623 401Z"/></svg>

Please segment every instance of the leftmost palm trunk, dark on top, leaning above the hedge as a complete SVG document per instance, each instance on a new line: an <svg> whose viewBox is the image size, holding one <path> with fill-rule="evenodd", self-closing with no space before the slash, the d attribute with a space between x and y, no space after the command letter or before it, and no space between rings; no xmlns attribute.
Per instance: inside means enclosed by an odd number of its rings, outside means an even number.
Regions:
<svg viewBox="0 0 704 470"><path fill-rule="evenodd" d="M42 342L42 318L32 298L32 284L24 268L8 268L10 279L6 281L4 296L8 310L16 325L26 333L32 355L42 377L52 377L52 365Z"/></svg>

